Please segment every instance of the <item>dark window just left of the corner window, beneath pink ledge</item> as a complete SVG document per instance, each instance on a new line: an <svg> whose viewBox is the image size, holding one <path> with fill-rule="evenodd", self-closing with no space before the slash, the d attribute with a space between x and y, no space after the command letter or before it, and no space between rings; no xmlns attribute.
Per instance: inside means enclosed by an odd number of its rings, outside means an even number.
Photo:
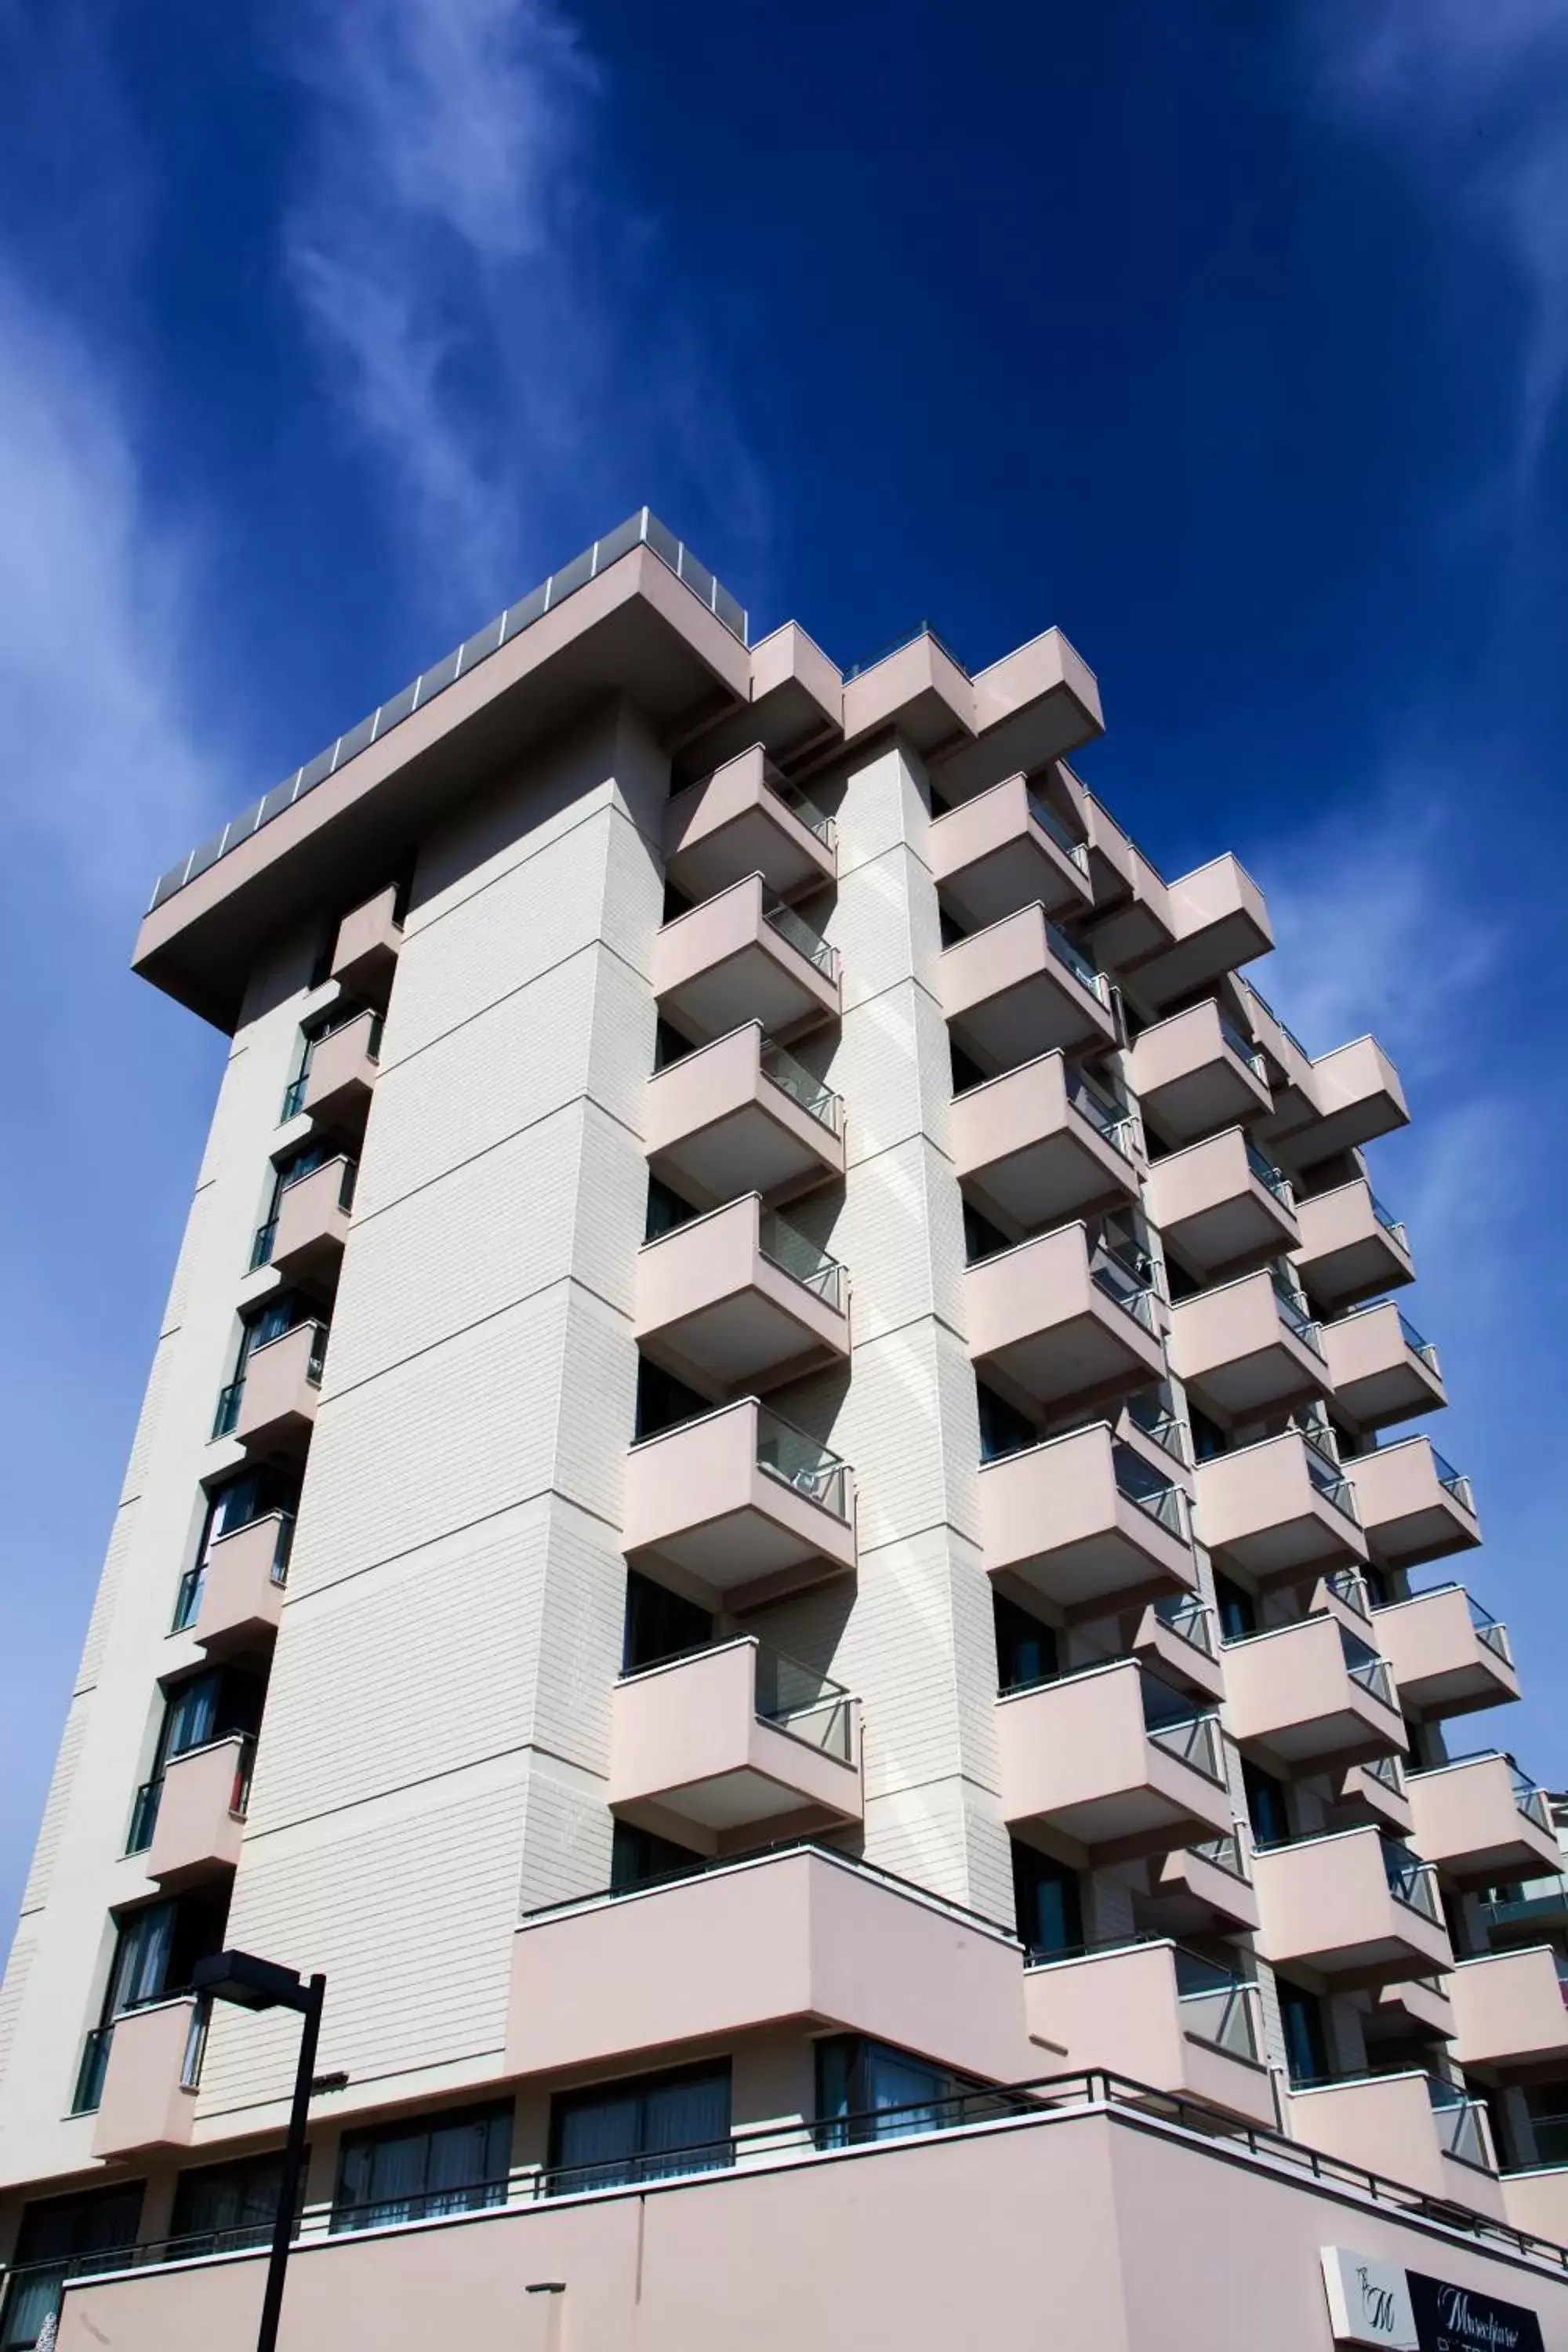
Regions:
<svg viewBox="0 0 1568 2352"><path fill-rule="evenodd" d="M550 2194L710 2173L733 2161L729 2063L569 2091L550 2103Z"/></svg>

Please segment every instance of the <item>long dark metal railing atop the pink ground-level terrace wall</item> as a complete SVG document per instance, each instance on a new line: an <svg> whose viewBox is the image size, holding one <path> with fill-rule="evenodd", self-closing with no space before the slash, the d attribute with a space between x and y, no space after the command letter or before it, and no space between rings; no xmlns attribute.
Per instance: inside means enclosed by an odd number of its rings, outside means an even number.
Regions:
<svg viewBox="0 0 1568 2352"><path fill-rule="evenodd" d="M729 2171L741 2164L835 2164L846 2159L863 2161L867 2154L875 2161L875 2147L879 2143L903 2140L912 2133L938 2136L959 2131L990 2133L1053 2129L1077 2114L1107 2114L1138 2131L1182 2133L1197 2150L1222 2150L1227 2157L1244 2157L1246 2161L1265 2166L1272 2176L1293 2176L1305 2183L1349 2190L1354 2197L1363 2197L1392 2216L1425 2223L1443 2237L1467 2239L1476 2249L1493 2246L1505 2251L1509 2258L1521 2258L1556 2277L1568 2274L1568 2249L1552 2244L1552 2239L1535 2237L1528 2230L1512 2227L1507 2220L1495 2220L1490 2213L1455 2204L1453 2197L1432 2197L1429 2192L1415 2190L1389 2178L1387 2173L1375 2173L1361 2164L1352 2164L1347 2157L1326 2154L1307 2140L1291 2140L1286 2133L1265 2124L1246 2124L1237 2114L1211 2107L1204 2100L1187 2098L1180 2091L1157 2091L1152 2084L1110 2072L1107 2067L1088 2067L1074 2074L1046 2074L990 2089L950 2091L936 2098L926 2096L910 2100L900 2107L877 2107L846 2117L832 2117L830 2122L755 2124L733 2131L722 2140L658 2150L651 2161L661 2166L661 2180L698 2178L701 2173ZM1549 2147L1542 2147L1542 2124L1561 2126L1561 2145L1552 2143ZM1568 2117L1540 2117L1537 2159L1549 2164L1563 2161L1563 2157L1568 2157ZM616 2169L637 2164L642 2164L639 2157L625 2157L616 2161ZM597 2171L602 2171L599 2164L571 2169L517 2166L508 2180L482 2180L470 2183L465 2190L454 2187L437 2190L433 2194L473 2194L475 2199L482 2194L487 2206L524 2211L541 2197L595 2194L595 2190L618 2194L623 2187L637 2185L635 2178L614 2183L592 2183L583 2178L585 2173ZM418 2199L397 2199L397 2206L407 2211L416 2201ZM339 2211L343 2209L339 2206ZM306 2211L299 2237L320 2239L327 2230L331 2230L331 2209ZM247 2232L223 2232L223 2237L233 2239L235 2249L242 2249L247 2241ZM12 2272L12 2288L24 2279L42 2277L45 2272L63 2284L66 2279L103 2277L115 2270L158 2267L162 2263L188 2258L188 2239L162 2239L141 2246L73 2256L66 2263L28 2265ZM214 2251L223 2249L214 2244Z"/></svg>

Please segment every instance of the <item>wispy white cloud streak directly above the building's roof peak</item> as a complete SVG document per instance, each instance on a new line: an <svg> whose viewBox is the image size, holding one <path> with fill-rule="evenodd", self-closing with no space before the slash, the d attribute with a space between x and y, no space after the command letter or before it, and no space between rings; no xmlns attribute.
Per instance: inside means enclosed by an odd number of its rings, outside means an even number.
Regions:
<svg viewBox="0 0 1568 2352"><path fill-rule="evenodd" d="M658 233L607 193L571 19L552 0L301 9L287 54L315 129L287 270L393 485L416 590L451 619L512 595L628 459L759 529Z"/></svg>

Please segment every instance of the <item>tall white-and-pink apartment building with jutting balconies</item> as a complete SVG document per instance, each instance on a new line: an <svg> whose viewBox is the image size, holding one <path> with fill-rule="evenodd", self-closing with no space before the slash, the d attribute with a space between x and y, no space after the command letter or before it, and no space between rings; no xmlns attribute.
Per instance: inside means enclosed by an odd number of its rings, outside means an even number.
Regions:
<svg viewBox="0 0 1568 2352"><path fill-rule="evenodd" d="M254 2328L296 2020L221 1947L327 1976L292 2352L1406 2340L1356 2263L1568 2345L1399 1075L1098 734L1058 630L839 675L644 513L158 884L233 1049L0 2002L2 2352Z"/></svg>

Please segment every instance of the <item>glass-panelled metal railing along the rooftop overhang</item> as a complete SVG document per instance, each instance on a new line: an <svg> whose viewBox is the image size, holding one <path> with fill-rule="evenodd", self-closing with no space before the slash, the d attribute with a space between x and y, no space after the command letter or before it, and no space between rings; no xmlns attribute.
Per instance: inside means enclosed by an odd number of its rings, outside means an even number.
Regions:
<svg viewBox="0 0 1568 2352"><path fill-rule="evenodd" d="M437 694L444 694L447 687L456 684L458 677L468 677L468 673L482 661L489 661L489 656L501 652L503 644L510 644L524 628L531 628L534 621L555 612L555 607L564 604L569 595L576 595L578 588L585 588L588 581L609 569L609 564L618 562L623 555L630 555L637 546L658 555L658 560L668 564L670 572L675 572L675 576L684 581L703 604L708 604L731 637L738 637L741 644L748 642L745 609L736 602L729 588L724 588L712 572L696 560L691 548L677 539L675 532L665 529L658 515L651 515L644 506L618 529L609 532L604 539L595 539L590 548L576 555L559 572L552 572L541 588L531 590L531 595L520 597L517 604L508 604L503 614L496 614L494 621L477 628L473 637L458 644L451 654L433 663L428 670L421 670L421 675L407 684L402 694L393 694L390 701L378 703L367 720L360 720L357 727L341 734L336 743L317 753L315 760L308 760L306 767L284 776L280 786L252 802L242 816L235 816L233 823L223 826L223 830L214 833L209 842L193 849L179 861L179 866L169 866L169 870L162 873L153 887L148 913L162 906L165 898L172 898L176 889L183 889L186 882L195 882L200 873L207 873L207 868L216 866L230 849L247 842L252 833L261 833L263 826L270 826L275 816L292 809L296 800L313 793L317 783L334 776L357 753L369 750L371 743L381 743L393 727L400 727L416 710L423 710Z"/></svg>

